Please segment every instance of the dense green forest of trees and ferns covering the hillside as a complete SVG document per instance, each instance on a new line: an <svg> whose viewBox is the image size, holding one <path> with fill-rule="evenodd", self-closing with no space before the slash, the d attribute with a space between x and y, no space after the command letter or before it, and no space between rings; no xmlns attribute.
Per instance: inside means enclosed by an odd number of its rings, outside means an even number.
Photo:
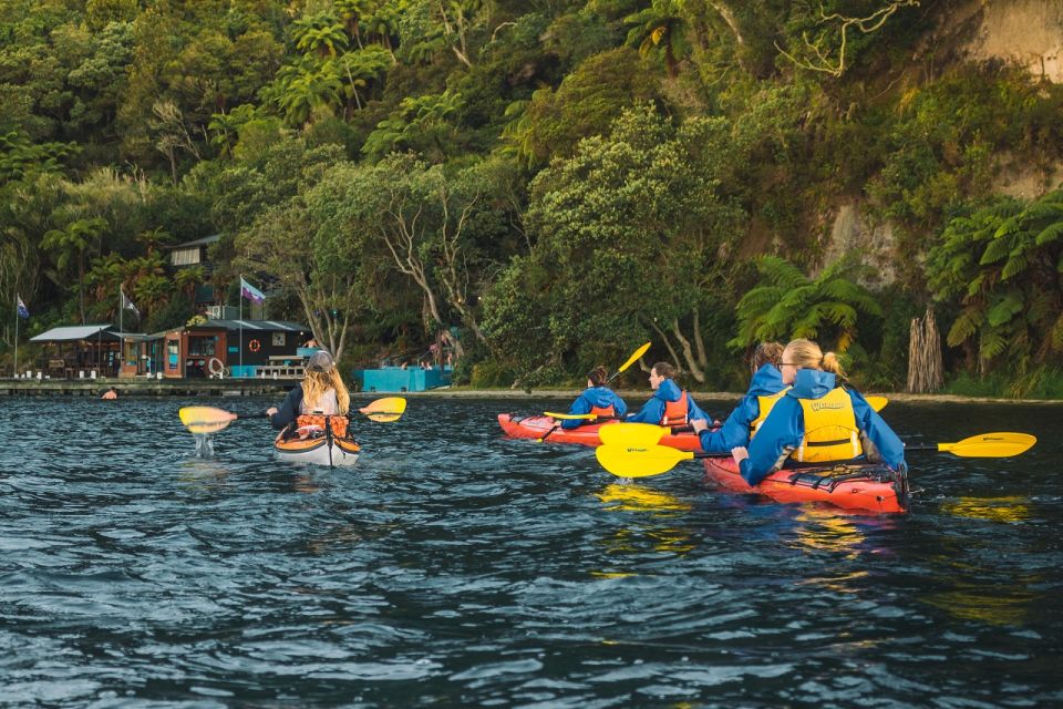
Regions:
<svg viewBox="0 0 1063 709"><path fill-rule="evenodd" d="M651 339L737 388L811 336L898 387L930 304L958 381L1053 391L1063 88L963 60L943 6L0 0L0 348L16 294L23 337L120 287L158 330L242 273L349 361L438 336L481 386ZM836 256L843 206L894 274Z"/></svg>

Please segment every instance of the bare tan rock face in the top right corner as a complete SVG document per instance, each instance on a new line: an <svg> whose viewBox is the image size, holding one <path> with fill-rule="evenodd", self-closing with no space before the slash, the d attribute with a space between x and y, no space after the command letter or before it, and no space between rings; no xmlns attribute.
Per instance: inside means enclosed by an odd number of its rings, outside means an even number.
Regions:
<svg viewBox="0 0 1063 709"><path fill-rule="evenodd" d="M978 0L954 17L977 22L966 47L969 59L1002 59L1035 78L1063 83L1063 1Z"/></svg>

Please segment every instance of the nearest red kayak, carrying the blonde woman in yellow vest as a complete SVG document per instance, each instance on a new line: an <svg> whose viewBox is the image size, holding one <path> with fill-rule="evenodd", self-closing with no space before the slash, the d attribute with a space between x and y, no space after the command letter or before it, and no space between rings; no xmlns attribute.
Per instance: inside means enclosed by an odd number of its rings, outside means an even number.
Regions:
<svg viewBox="0 0 1063 709"><path fill-rule="evenodd" d="M780 470L751 486L733 458L706 458L705 480L734 492L766 495L777 502L825 502L846 510L907 512L908 474L885 465L837 464Z"/></svg>

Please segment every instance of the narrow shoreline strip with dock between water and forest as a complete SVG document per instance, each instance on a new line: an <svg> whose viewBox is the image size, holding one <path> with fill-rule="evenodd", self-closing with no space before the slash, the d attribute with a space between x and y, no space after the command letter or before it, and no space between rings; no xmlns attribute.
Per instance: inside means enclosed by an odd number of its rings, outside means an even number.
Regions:
<svg viewBox="0 0 1063 709"><path fill-rule="evenodd" d="M94 380L63 379L0 379L0 397L99 397L114 388L120 397L265 397L283 394L298 380L262 379L126 379L99 378ZM451 399L575 399L582 389L472 389L441 387L426 391L371 392L351 391L358 399L382 397L451 398ZM649 389L618 389L628 401L642 401ZM690 390L696 399L714 402L735 402L745 392ZM904 403L997 403L997 404L1063 404L1060 399L1003 399L994 397L963 397L959 394L909 394L906 392L874 392L890 401Z"/></svg>

